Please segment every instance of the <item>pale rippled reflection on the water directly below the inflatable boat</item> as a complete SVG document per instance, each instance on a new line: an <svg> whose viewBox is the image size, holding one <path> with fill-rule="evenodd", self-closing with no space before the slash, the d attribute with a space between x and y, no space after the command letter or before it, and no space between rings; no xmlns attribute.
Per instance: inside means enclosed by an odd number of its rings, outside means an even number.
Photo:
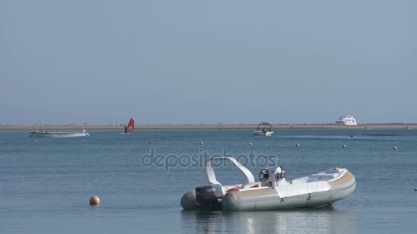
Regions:
<svg viewBox="0 0 417 234"><path fill-rule="evenodd" d="M182 211L182 228L187 233L353 233L351 211L296 209L290 211Z"/></svg>

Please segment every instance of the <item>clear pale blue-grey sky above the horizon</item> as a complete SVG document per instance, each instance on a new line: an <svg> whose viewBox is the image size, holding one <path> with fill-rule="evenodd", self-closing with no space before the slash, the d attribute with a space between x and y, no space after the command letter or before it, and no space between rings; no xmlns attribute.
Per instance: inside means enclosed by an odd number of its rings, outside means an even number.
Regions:
<svg viewBox="0 0 417 234"><path fill-rule="evenodd" d="M0 125L417 122L417 1L0 1Z"/></svg>

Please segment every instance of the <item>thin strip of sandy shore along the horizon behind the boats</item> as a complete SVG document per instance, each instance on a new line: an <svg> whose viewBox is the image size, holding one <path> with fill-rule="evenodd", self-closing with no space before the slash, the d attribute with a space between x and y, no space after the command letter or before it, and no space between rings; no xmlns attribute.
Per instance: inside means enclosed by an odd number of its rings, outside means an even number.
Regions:
<svg viewBox="0 0 417 234"><path fill-rule="evenodd" d="M342 125L273 125L274 129L417 129L417 124L366 124L357 126ZM69 125L48 125L45 127L27 126L27 125L0 125L0 130L32 130L32 129L91 129L91 130L123 130L124 126L113 125L86 125L69 126ZM136 125L136 129L256 129L258 125Z"/></svg>

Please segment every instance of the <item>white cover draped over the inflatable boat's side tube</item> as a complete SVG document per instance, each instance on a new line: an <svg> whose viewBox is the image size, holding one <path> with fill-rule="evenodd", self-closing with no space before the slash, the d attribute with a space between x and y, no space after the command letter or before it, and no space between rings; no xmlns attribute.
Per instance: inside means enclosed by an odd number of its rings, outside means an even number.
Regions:
<svg viewBox="0 0 417 234"><path fill-rule="evenodd" d="M313 192L324 192L331 190L331 185L327 181L302 183L297 185L281 185L275 187L278 196L285 198L287 196L297 196L311 194Z"/></svg>

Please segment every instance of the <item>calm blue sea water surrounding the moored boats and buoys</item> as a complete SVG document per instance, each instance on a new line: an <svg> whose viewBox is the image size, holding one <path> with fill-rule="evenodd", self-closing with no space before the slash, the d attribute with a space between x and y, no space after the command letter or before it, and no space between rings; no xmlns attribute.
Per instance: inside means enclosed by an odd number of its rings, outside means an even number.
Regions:
<svg viewBox="0 0 417 234"><path fill-rule="evenodd" d="M36 138L38 142L27 135L27 131L0 131L0 233L417 231L415 129L288 129L276 130L272 138L253 137L250 130L136 131L132 135L91 131L89 138ZM297 143L301 146L296 147ZM392 149L394 145L398 150ZM141 158L150 148L155 155L193 158L204 152L222 155L224 148L235 156L277 155L287 179L334 166L348 168L355 174L357 190L374 205L365 205L365 200L352 194L348 199L363 205L341 200L331 209L182 211L182 194L207 184L203 169L143 166ZM248 168L257 178L261 167ZM225 184L244 179L228 166L217 169L219 181ZM88 199L96 194L102 204L90 207Z"/></svg>

